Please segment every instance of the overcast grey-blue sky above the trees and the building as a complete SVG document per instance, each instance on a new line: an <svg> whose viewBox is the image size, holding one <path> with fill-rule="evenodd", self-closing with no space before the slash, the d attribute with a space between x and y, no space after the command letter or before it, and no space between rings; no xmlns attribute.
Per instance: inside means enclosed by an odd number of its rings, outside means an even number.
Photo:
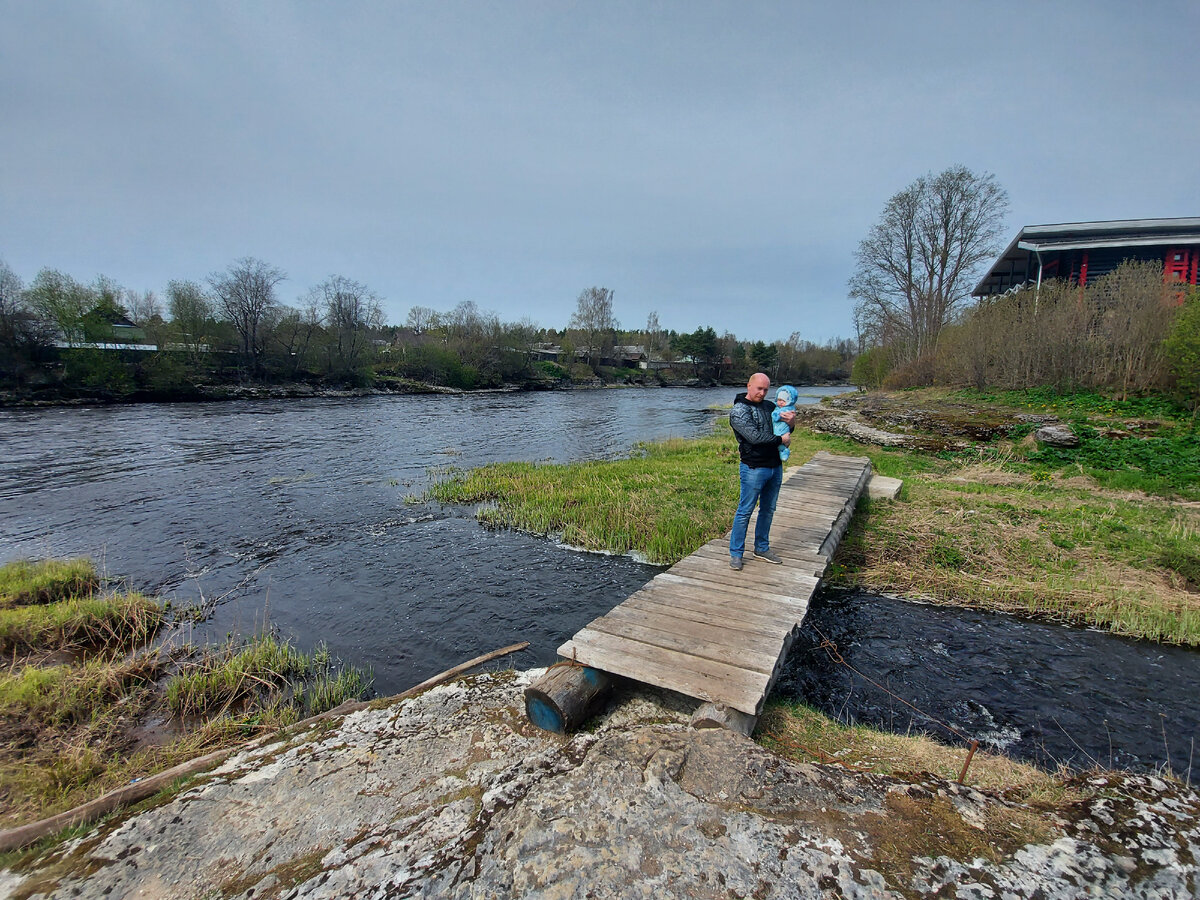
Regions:
<svg viewBox="0 0 1200 900"><path fill-rule="evenodd" d="M961 163L1022 224L1200 215L1200 4L0 0L0 259L244 256L562 328L851 336L853 251Z"/></svg>

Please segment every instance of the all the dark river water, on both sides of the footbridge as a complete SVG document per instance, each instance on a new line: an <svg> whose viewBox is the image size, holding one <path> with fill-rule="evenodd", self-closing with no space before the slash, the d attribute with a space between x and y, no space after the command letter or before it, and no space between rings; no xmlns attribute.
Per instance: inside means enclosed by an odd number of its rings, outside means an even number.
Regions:
<svg viewBox="0 0 1200 900"><path fill-rule="evenodd" d="M800 402L839 389L804 388ZM420 500L450 467L611 458L712 426L722 389L382 396L0 410L0 562L91 556L200 605L179 640L276 629L392 694L503 644L545 665L658 571L488 530ZM821 634L872 680L828 661ZM1189 766L1192 650L827 592L778 692L844 719L946 722L1043 763ZM906 694L907 691L907 694ZM942 733L946 738L948 734Z"/></svg>

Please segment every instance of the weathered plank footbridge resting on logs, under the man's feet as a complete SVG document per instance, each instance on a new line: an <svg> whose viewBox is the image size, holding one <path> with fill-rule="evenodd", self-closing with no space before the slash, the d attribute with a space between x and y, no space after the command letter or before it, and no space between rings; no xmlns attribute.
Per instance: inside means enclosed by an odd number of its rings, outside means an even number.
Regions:
<svg viewBox="0 0 1200 900"><path fill-rule="evenodd" d="M706 701L697 725L749 733L870 479L869 460L823 451L787 469L770 529L782 565L748 550L733 571L728 535L709 541L559 647L578 665L530 685L529 718L565 731L614 674Z"/></svg>

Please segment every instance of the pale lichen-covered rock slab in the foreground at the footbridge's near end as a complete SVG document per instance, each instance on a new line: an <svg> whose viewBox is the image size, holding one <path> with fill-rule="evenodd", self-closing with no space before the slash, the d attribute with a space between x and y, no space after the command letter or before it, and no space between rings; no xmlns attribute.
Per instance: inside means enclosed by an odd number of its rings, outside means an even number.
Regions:
<svg viewBox="0 0 1200 900"><path fill-rule="evenodd" d="M0 872L0 896L1196 895L1200 798L1177 785L1109 775L1046 817L931 776L791 763L647 694L559 737L524 719L535 674L242 751Z"/></svg>

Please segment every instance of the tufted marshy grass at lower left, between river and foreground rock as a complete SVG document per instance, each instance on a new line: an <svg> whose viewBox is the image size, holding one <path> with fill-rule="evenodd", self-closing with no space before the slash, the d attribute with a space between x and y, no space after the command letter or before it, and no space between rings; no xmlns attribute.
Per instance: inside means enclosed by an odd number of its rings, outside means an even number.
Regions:
<svg viewBox="0 0 1200 900"><path fill-rule="evenodd" d="M329 650L301 653L272 635L215 649L150 650L163 606L137 593L101 595L98 584L86 560L0 566L4 596L25 598L0 606L0 828L61 812L370 690L370 673L338 668ZM86 590L77 594L80 587ZM72 661L62 664L64 655Z"/></svg>

